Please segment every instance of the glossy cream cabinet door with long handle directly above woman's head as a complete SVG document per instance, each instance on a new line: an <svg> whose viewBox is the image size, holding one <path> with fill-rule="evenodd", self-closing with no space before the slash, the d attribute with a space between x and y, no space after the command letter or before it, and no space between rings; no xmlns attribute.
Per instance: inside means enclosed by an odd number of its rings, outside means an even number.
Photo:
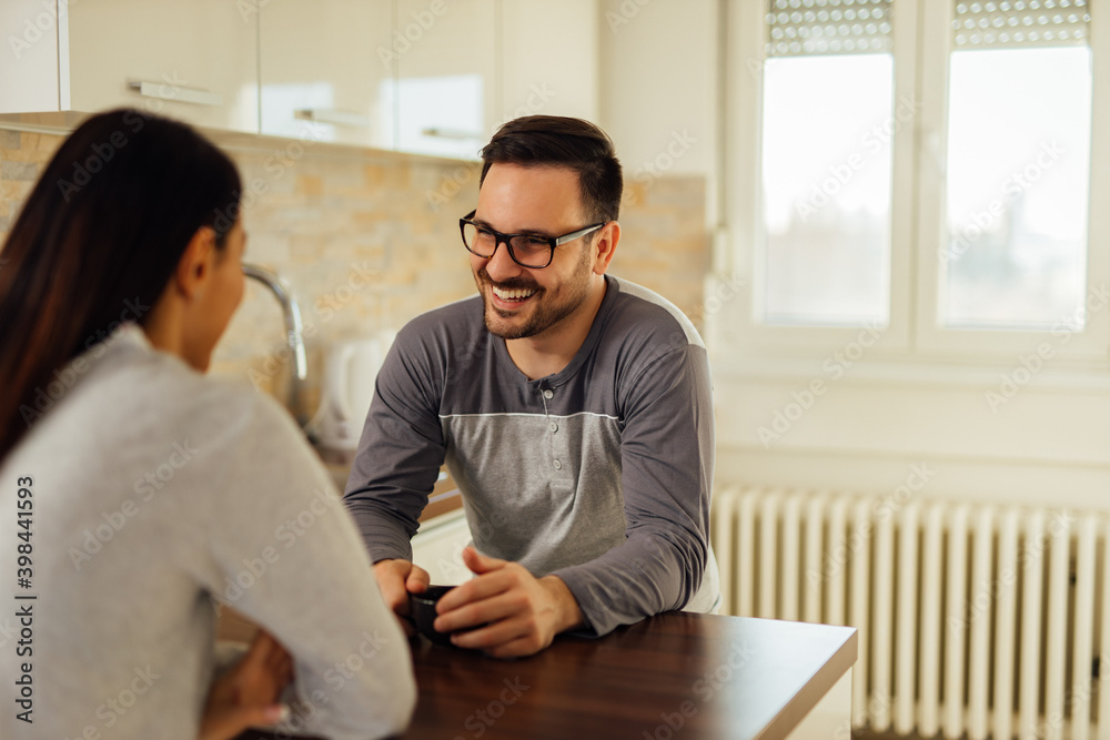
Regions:
<svg viewBox="0 0 1110 740"><path fill-rule="evenodd" d="M61 110L131 107L259 131L254 2L73 2L59 24Z"/></svg>

